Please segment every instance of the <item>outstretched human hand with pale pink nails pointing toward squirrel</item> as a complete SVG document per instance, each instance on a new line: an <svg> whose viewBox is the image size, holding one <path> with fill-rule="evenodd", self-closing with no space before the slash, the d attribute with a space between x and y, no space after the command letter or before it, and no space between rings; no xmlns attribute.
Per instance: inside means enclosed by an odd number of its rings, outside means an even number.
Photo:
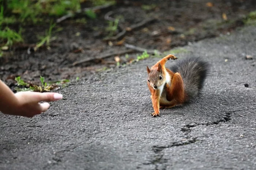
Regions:
<svg viewBox="0 0 256 170"><path fill-rule="evenodd" d="M33 117L45 112L50 107L49 103L39 103L42 101L56 101L62 99L63 95L53 92L18 92L15 94L18 103L6 114Z"/></svg>

